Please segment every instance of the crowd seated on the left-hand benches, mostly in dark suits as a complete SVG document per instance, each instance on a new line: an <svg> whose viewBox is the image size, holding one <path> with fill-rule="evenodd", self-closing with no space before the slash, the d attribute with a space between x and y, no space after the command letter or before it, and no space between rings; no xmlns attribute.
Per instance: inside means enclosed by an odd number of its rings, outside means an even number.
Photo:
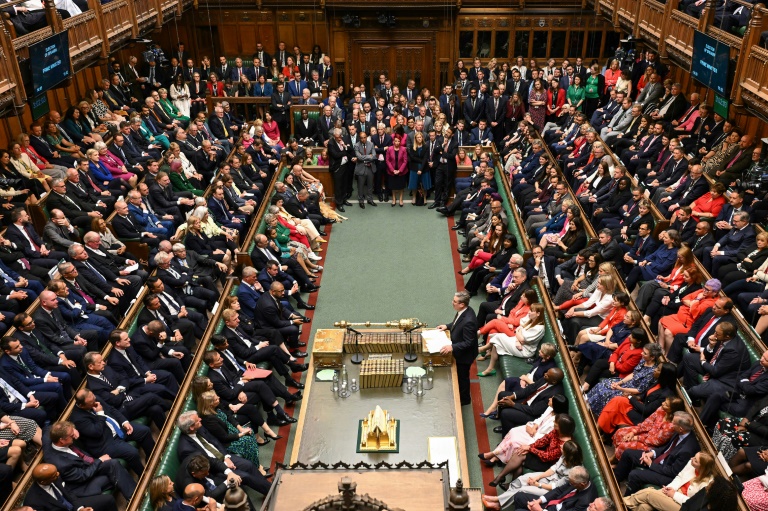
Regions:
<svg viewBox="0 0 768 511"><path fill-rule="evenodd" d="M163 428L201 340L212 346L210 379L195 387L197 419L174 418L180 473L208 464L266 494L258 446L281 438L272 427L296 422L290 408L302 398L304 310L314 309L324 229L337 218L323 187L307 160L286 154L290 171L268 195L282 170L280 134L253 138L224 98L210 115L190 116L160 87L154 62L146 79L136 66L133 57L113 64L99 90L63 116L50 112L0 156L0 335L11 334L0 342L2 488L42 450L26 497L42 509L49 498L116 509L110 489L131 498L155 447L150 427ZM267 112L253 131L272 119ZM248 238L262 206L266 230ZM45 211L44 226L30 208ZM253 266L240 269L238 293L222 297L251 242ZM208 338L216 307L221 335ZM138 311L133 333L122 328L129 311ZM244 374L261 363L271 371ZM74 411L62 416L70 399Z"/></svg>

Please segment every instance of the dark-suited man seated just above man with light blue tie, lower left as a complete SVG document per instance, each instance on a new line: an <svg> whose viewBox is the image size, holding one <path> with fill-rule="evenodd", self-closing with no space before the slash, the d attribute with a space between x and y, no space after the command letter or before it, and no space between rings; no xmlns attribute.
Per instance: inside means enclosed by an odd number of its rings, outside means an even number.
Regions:
<svg viewBox="0 0 768 511"><path fill-rule="evenodd" d="M120 376L107 367L100 353L89 351L83 357L86 368L87 386L99 398L110 404L128 420L148 417L158 428L165 424L165 412L171 406L157 395L158 389L150 385L129 387L121 382ZM162 389L159 389L162 390Z"/></svg>

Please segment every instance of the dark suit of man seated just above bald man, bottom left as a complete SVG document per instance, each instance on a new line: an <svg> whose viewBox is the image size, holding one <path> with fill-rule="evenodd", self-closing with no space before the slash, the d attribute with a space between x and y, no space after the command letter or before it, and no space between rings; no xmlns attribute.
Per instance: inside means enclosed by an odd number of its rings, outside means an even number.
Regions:
<svg viewBox="0 0 768 511"><path fill-rule="evenodd" d="M100 495L107 488L116 488L126 500L130 500L136 483L128 471L117 460L101 461L95 453L86 454L94 458L92 463L48 446L43 450L43 460L56 465L61 480L67 483L67 488L75 497Z"/></svg>

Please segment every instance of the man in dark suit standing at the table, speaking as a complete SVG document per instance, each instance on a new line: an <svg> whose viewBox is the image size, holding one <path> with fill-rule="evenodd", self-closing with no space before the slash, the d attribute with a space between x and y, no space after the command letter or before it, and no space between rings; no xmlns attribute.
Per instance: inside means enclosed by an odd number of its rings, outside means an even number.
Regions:
<svg viewBox="0 0 768 511"><path fill-rule="evenodd" d="M466 291L456 293L453 296L453 310L456 311L453 321L437 327L438 330L448 330L451 334L451 344L443 346L440 353L453 353L456 360L462 406L472 403L469 393L469 369L477 358L477 316L469 306L469 299L469 293Z"/></svg>

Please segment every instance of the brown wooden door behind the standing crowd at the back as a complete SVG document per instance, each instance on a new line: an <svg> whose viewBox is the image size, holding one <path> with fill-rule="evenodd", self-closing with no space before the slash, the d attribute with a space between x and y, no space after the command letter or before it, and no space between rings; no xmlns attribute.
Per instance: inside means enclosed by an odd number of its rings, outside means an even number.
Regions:
<svg viewBox="0 0 768 511"><path fill-rule="evenodd" d="M352 42L352 70L355 84L364 83L372 90L379 75L386 74L401 90L413 79L416 88L433 87L432 43L429 41L371 41Z"/></svg>

